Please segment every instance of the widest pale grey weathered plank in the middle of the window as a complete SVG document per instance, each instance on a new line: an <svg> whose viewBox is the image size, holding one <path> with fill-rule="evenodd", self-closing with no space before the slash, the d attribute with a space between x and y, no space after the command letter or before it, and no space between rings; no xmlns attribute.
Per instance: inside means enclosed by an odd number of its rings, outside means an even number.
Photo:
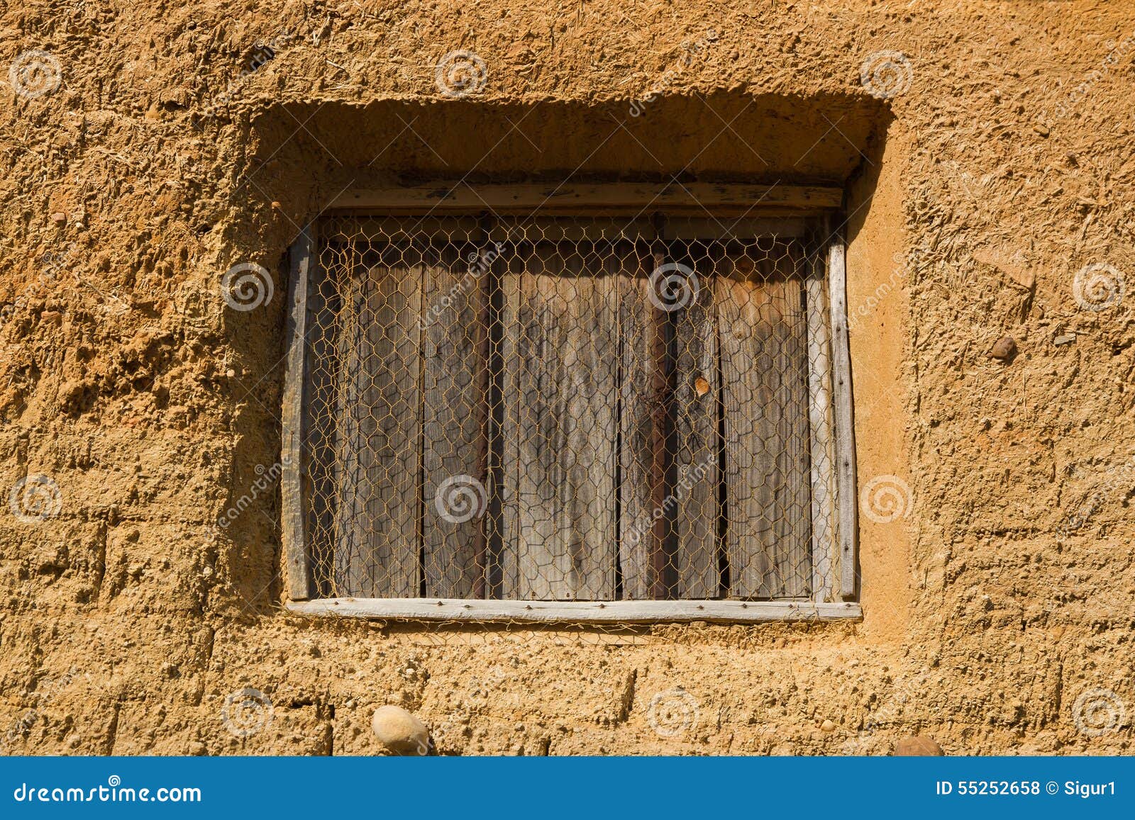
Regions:
<svg viewBox="0 0 1135 820"><path fill-rule="evenodd" d="M575 246L539 244L504 273L505 421L502 595L614 595L615 278ZM508 463L508 458L513 458Z"/></svg>

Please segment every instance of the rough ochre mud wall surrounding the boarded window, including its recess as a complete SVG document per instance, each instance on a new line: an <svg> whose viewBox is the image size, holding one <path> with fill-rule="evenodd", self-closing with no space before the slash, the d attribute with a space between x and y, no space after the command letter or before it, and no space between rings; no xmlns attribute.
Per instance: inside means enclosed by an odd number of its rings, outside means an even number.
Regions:
<svg viewBox="0 0 1135 820"><path fill-rule="evenodd" d="M1129 3L150 6L0 8L0 752L376 753L382 703L442 753L1135 750ZM571 172L846 185L861 623L283 609L289 242Z"/></svg>

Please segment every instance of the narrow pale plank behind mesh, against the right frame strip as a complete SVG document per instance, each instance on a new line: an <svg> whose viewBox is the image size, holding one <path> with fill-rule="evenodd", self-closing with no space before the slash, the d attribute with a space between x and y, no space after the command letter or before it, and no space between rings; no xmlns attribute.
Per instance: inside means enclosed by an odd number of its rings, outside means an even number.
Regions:
<svg viewBox="0 0 1135 820"><path fill-rule="evenodd" d="M835 583L835 450L832 438L832 356L826 265L817 256L808 271L808 421L812 436L812 594L832 600Z"/></svg>

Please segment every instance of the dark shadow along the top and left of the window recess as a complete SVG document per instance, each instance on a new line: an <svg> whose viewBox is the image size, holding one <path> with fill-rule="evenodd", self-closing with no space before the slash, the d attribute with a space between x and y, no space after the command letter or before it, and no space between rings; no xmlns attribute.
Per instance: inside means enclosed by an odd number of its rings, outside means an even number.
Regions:
<svg viewBox="0 0 1135 820"><path fill-rule="evenodd" d="M650 101L495 104L471 99L274 104L252 118L230 197L230 260L270 260L275 298L227 310L230 360L255 388L236 415L218 551L241 605L281 597L280 403L287 248L351 188L428 180L747 181L846 186L871 175L891 115L869 95L721 92Z"/></svg>

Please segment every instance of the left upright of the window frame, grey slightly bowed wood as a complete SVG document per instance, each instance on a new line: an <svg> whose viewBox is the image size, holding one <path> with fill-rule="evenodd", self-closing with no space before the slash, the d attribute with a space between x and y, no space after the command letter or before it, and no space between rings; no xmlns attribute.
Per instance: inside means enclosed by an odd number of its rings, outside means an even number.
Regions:
<svg viewBox="0 0 1135 820"><path fill-rule="evenodd" d="M312 228L300 231L291 248L288 271L288 314L284 331L286 370L280 425L280 504L281 539L287 561L288 598L305 601L311 597L311 567L304 540L303 439L305 336L308 322L308 272L314 253Z"/></svg>

